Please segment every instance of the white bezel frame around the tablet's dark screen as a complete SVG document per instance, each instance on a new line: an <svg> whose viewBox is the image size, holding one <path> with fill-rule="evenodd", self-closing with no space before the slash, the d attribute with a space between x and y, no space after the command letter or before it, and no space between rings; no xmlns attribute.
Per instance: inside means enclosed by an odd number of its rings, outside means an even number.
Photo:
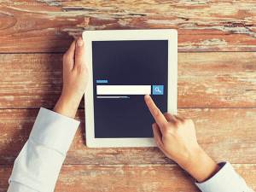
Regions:
<svg viewBox="0 0 256 192"><path fill-rule="evenodd" d="M84 93L85 139L89 148L155 147L154 138L95 138L92 41L168 40L167 111L177 113L177 30L99 30L83 32L89 81ZM172 82L172 83L170 83Z"/></svg>

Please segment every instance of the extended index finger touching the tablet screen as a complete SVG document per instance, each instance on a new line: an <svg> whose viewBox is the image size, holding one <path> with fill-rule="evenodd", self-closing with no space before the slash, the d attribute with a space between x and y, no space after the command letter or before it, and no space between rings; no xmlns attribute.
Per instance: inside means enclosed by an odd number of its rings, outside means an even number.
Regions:
<svg viewBox="0 0 256 192"><path fill-rule="evenodd" d="M157 106L154 104L154 101L151 98L151 96L146 95L144 97L144 99L145 99L145 102L148 106L150 113L154 117L155 122L160 126L160 128L162 128L164 125L166 125L168 123L165 115L163 113L161 113L160 109L157 108Z"/></svg>

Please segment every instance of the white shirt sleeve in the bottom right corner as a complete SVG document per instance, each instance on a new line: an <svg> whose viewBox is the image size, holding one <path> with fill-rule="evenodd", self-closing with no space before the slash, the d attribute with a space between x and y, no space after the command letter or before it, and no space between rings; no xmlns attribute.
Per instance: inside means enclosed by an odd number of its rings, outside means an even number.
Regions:
<svg viewBox="0 0 256 192"><path fill-rule="evenodd" d="M229 162L218 164L220 170L204 183L195 183L202 192L253 192Z"/></svg>

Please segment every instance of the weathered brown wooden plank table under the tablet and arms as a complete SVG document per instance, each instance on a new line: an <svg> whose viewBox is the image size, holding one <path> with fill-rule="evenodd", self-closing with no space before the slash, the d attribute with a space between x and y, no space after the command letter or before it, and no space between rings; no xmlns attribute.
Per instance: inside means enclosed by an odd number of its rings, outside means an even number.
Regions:
<svg viewBox="0 0 256 192"><path fill-rule="evenodd" d="M61 91L61 57L83 30L176 28L178 113L256 189L256 2L0 1L0 191L38 108ZM195 192L157 148L86 148L82 121L55 191Z"/></svg>

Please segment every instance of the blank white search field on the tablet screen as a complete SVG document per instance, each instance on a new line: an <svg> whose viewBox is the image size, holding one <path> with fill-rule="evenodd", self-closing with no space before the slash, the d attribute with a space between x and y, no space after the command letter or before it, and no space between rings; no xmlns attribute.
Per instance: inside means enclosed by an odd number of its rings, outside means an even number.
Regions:
<svg viewBox="0 0 256 192"><path fill-rule="evenodd" d="M96 85L97 95L150 95L151 85Z"/></svg>

